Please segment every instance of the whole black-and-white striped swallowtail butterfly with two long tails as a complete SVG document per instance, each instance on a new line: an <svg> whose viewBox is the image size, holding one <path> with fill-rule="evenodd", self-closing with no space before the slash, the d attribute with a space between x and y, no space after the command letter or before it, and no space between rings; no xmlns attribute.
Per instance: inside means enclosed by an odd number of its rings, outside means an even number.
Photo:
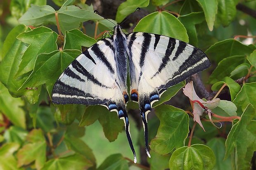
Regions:
<svg viewBox="0 0 256 170"><path fill-rule="evenodd" d="M147 114L167 88L209 68L200 49L186 42L152 33L125 34L120 25L80 54L55 83L54 104L103 105L123 119L128 143L137 162L129 131L127 102L137 102L148 150ZM128 95L127 75L130 78Z"/></svg>

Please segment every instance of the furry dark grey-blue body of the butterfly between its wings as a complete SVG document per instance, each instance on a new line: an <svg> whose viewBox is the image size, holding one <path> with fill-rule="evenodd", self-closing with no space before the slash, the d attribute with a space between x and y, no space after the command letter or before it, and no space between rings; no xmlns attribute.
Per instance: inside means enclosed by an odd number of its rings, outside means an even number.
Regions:
<svg viewBox="0 0 256 170"><path fill-rule="evenodd" d="M126 57L126 49L127 49L127 38L126 34L123 33L121 26L117 25L114 27L114 34L112 36L113 43L115 47L115 56L114 60L116 61L116 71L119 75L120 81L123 83L123 86L126 86L127 79L127 57Z"/></svg>

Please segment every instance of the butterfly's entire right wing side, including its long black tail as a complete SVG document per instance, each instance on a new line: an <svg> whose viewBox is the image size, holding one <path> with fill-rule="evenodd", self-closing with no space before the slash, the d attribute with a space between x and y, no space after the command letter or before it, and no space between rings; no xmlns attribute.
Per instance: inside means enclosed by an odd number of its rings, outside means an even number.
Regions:
<svg viewBox="0 0 256 170"><path fill-rule="evenodd" d="M127 41L130 98L139 103L148 153L147 113L152 104L166 88L209 68L211 62L200 49L171 37L137 32L128 34Z"/></svg>

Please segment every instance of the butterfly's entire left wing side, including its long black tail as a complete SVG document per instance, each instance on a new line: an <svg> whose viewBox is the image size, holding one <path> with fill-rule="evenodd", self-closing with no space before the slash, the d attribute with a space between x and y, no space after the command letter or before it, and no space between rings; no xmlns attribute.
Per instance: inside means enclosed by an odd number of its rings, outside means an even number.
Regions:
<svg viewBox="0 0 256 170"><path fill-rule="evenodd" d="M125 123L126 135L136 163L126 108L127 76L125 79L124 76L123 79L120 78L118 71L122 70L122 75L127 75L127 62L118 64L115 48L118 47L114 44L113 37L105 38L78 56L55 83L52 89L52 102L58 105L103 105L109 111L117 112L119 119L123 119ZM127 61L126 56L123 57L124 61Z"/></svg>

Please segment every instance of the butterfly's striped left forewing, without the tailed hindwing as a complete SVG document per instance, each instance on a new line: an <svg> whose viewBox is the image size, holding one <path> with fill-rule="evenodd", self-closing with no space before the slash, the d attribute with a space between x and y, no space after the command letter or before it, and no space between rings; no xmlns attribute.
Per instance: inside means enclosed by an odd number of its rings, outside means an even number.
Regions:
<svg viewBox="0 0 256 170"><path fill-rule="evenodd" d="M99 105L120 98L115 66L112 49L97 42L64 70L52 90L52 102Z"/></svg>

